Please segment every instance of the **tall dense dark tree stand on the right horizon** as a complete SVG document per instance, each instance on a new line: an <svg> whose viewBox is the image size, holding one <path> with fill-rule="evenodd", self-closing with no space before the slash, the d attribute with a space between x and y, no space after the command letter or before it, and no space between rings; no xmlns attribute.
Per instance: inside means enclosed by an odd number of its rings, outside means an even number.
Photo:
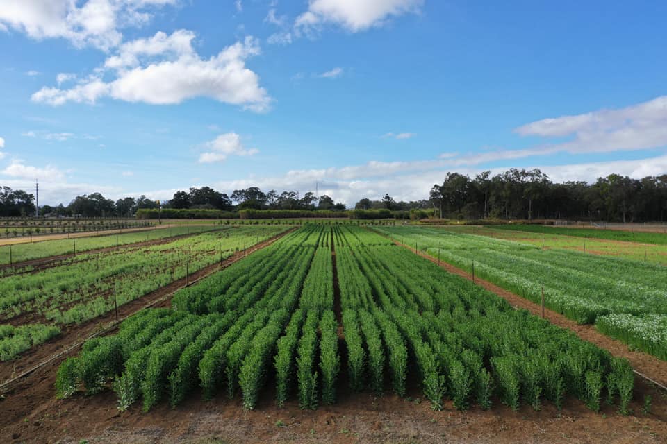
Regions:
<svg viewBox="0 0 667 444"><path fill-rule="evenodd" d="M470 178L447 173L429 201L450 219L588 219L636 222L667 218L667 174L633 179L619 174L583 181L552 182L539 169L489 171Z"/></svg>

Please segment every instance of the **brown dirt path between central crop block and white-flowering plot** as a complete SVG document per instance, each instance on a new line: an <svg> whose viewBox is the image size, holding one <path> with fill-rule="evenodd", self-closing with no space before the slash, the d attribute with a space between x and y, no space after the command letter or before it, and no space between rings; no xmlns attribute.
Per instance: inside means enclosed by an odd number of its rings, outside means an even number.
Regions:
<svg viewBox="0 0 667 444"><path fill-rule="evenodd" d="M415 249L412 246L402 244L400 241L395 240L394 244L407 248L413 253L415 252ZM438 264L438 259L436 257L432 257L423 251L418 251L416 254L424 257L425 259L428 259L431 262L434 262L434 264ZM440 262L440 267L444 268L452 274L459 275L462 278L466 278L468 280L472 280L472 275L470 275L468 271L461 270L461 268L456 268L455 266L447 264L446 262ZM502 287L498 287L496 284L479 279L477 277L475 278L475 284L479 285L480 287L484 287L488 291L491 291L504 298L513 307L526 309L536 316L542 315L541 305L537 305L534 302L522 298L515 293L511 293L511 291L507 291ZM544 312L545 319L550 321L550 323L575 332L575 334L577 334L577 336L579 336L579 338L583 339L584 341L594 343L600 348L609 350L611 355L628 359L635 370L643 373L643 375L646 375L651 379L654 379L654 381L659 382L659 384L667 386L667 361L662 361L661 359L658 359L652 355L648 355L644 352L629 350L627 345L598 332L598 330L595 330L593 325L579 325L575 321L566 318L562 314L547 308L544 309Z"/></svg>

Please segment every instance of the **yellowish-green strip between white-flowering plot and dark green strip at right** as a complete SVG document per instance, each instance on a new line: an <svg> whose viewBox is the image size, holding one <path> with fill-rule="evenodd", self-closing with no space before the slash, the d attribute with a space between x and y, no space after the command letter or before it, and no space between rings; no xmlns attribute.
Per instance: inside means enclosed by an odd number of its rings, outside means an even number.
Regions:
<svg viewBox="0 0 667 444"><path fill-rule="evenodd" d="M637 261L643 261L645 259L646 262L667 265L667 248L661 244L641 244L639 242L613 241L591 237L582 238L566 236L565 234L553 234L548 231L542 233L522 230L503 230L499 228L499 225L483 227L472 225L446 225L445 227L438 227L436 229L462 234L478 234L481 236L493 237L495 239L507 239L522 244L530 244L538 247L544 246L544 248L561 248L563 250L618 257L622 259L634 259ZM570 230L579 230L579 228L571 228ZM661 236L664 236L664 234L661 234Z"/></svg>

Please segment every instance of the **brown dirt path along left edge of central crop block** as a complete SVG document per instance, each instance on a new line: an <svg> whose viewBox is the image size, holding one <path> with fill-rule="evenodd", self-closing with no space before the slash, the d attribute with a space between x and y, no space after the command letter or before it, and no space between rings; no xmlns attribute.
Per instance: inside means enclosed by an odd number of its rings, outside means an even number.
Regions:
<svg viewBox="0 0 667 444"><path fill-rule="evenodd" d="M225 259L222 262L222 265L220 262L217 262L207 266L206 268L202 268L195 273L191 273L188 277L176 280L166 287L162 287L156 291L148 293L145 296L121 305L118 307L119 320L122 321L124 318L131 316L140 309L144 309L148 306L168 306L173 293L183 287L186 287L188 282L193 284L197 282L197 280L205 278L211 273L215 273L222 268L227 268L242 257L245 257L256 250L260 250L261 248L269 246L270 244L274 243L274 241L277 241L293 230L295 230L295 228L283 231L271 239L267 239L266 241L263 241L259 244L255 244L254 246L251 246L245 250L240 250L238 253L235 253L231 257ZM92 319L88 322L79 325L74 324L65 326L63 327L63 332L61 332L59 336L56 336L55 339L47 341L46 343L38 345L37 347L31 348L21 357L19 357L19 359L15 359L14 361L0 362L0 382L2 382L2 384L6 384L8 379L11 379L17 375L21 375L26 370L30 370L35 366L43 363L44 361L52 359L54 356L65 352L66 350L74 352L74 350L76 350L78 346L81 345L83 341L85 341L85 339L88 339L90 336L95 334L100 334L101 332L106 333L111 331L116 325L117 323L115 320L115 312L110 311L108 314ZM67 355L63 355L59 357L59 359L56 359L56 361L59 363L66 356ZM8 390L9 388L11 387L0 385L0 393L2 391Z"/></svg>

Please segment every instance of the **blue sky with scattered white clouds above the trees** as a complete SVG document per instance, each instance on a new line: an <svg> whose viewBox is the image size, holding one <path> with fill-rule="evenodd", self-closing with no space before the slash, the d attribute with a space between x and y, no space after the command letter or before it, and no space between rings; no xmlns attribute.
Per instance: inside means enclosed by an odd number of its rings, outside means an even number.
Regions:
<svg viewBox="0 0 667 444"><path fill-rule="evenodd" d="M0 0L0 183L428 196L667 173L667 3Z"/></svg>

